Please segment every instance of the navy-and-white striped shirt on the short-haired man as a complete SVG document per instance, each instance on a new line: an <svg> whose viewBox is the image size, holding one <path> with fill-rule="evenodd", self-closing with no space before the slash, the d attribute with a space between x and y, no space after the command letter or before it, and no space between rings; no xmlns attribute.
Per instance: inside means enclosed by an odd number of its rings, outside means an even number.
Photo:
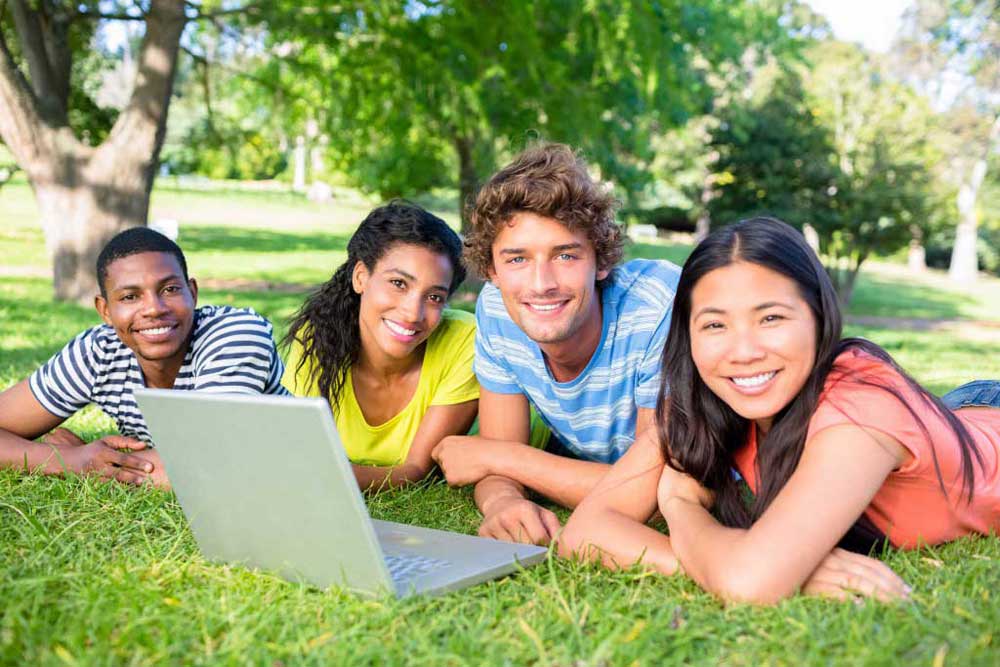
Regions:
<svg viewBox="0 0 1000 667"><path fill-rule="evenodd" d="M202 306L174 389L219 394L283 394L284 365L271 323L249 308ZM133 390L145 387L132 352L107 324L84 331L28 379L46 410L69 417L95 403L122 435L151 443Z"/></svg>

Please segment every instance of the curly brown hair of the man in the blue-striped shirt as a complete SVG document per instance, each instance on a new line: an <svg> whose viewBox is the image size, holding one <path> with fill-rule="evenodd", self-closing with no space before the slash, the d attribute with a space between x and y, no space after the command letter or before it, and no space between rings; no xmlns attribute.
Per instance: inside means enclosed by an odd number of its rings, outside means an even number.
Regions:
<svg viewBox="0 0 1000 667"><path fill-rule="evenodd" d="M594 244L599 270L611 269L624 254L624 236L615 222L618 200L587 173L582 158L565 144L529 148L498 171L469 209L465 261L482 278L493 270L493 241L501 225L517 213L554 218L583 230Z"/></svg>

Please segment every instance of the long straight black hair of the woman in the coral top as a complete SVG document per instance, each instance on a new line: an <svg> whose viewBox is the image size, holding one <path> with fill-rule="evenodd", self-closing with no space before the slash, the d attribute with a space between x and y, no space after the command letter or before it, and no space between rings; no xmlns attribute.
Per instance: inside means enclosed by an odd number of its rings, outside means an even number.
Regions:
<svg viewBox="0 0 1000 667"><path fill-rule="evenodd" d="M802 389L775 415L770 431L758 432L758 488L751 507L741 497L734 479L734 454L749 436L750 420L736 414L702 381L691 356L691 292L715 269L749 262L794 281L816 320L816 358ZM734 287L735 288L735 287ZM756 521L785 486L799 464L827 375L837 357L860 349L889 364L920 399L954 431L961 447L962 479L972 501L973 458L984 466L982 454L962 423L941 401L907 375L878 345L860 338L841 339L842 317L837 294L823 265L802 234L774 218L757 217L723 227L709 235L684 263L674 297L670 332L663 350L663 382L656 409L657 435L664 460L672 468L697 479L716 494L716 510L727 526L747 528ZM841 369L837 369L840 372ZM914 408L896 389L863 378L852 381L891 393L909 410L930 442L930 433ZM933 443L932 452L933 450ZM945 491L934 453L938 482Z"/></svg>

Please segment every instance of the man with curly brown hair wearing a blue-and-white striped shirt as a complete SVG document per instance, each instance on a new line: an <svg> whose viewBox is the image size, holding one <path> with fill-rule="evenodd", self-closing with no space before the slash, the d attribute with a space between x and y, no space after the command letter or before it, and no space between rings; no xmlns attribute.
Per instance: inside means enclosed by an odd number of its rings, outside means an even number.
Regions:
<svg viewBox="0 0 1000 667"><path fill-rule="evenodd" d="M479 436L434 458L476 484L480 534L545 544L559 529L527 491L575 507L653 421L680 270L622 257L615 200L566 146L528 150L476 198L467 259L476 304ZM552 437L529 443L529 405Z"/></svg>

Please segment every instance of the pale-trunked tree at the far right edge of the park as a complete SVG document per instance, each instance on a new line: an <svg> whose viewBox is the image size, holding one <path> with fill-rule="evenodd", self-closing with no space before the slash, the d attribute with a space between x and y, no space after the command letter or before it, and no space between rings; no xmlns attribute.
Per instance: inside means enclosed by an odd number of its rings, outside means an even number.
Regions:
<svg viewBox="0 0 1000 667"><path fill-rule="evenodd" d="M953 119L957 222L949 275L976 279L976 228L990 155L1000 149L1000 3L920 0L904 15L898 67Z"/></svg>

